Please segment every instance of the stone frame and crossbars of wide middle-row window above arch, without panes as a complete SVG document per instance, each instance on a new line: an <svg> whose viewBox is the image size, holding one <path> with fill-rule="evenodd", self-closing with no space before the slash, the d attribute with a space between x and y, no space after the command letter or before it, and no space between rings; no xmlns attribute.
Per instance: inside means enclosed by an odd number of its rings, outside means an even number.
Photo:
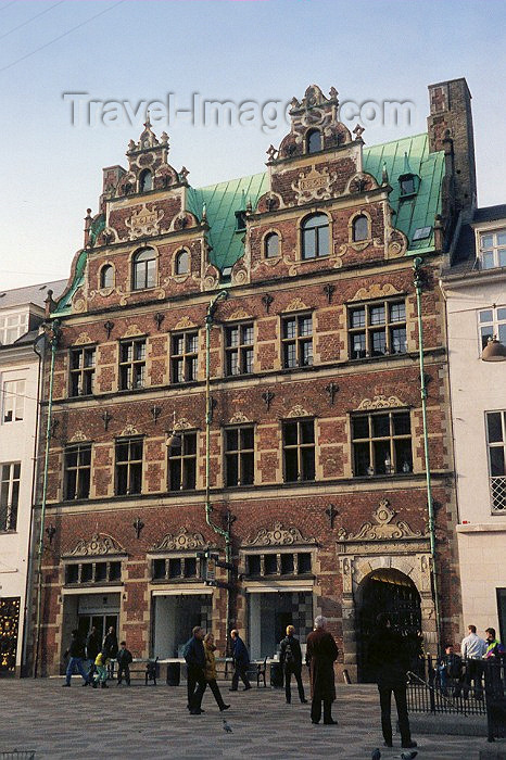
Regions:
<svg viewBox="0 0 506 760"><path fill-rule="evenodd" d="M393 418L395 416L400 415L408 415L409 419L409 433L396 433L394 429L394 421ZM374 435L374 418L380 417L380 416L389 415L389 435ZM367 417L368 419L368 435L367 436L354 436L354 430L353 430L353 423L354 420L357 420L358 418L365 418ZM410 474L414 471L414 423L413 423L413 410L407 407L385 407L385 408L375 408L375 409L365 409L365 410L356 410L352 411L350 414L350 446L351 446L351 459L352 459L352 470L353 470L353 478L365 478L365 477L389 477L389 478L397 478L400 476L406 476ZM409 441L409 449L407 451L407 456L408 459L404 459L403 463L400 465L400 469L397 468L397 451L395 447L395 442L401 442L401 441ZM388 457L390 458L390 471L387 471L387 457L383 460L383 468L384 472L378 471L379 468L376 467L376 457L375 457L375 443L381 443L381 442L389 442L389 452L388 452ZM356 460L355 460L355 444L362 444L362 443L368 443L369 446L369 465L366 469L366 472L360 472L357 474L356 470ZM401 456L399 457L401 458ZM405 467L407 465L407 467Z"/></svg>

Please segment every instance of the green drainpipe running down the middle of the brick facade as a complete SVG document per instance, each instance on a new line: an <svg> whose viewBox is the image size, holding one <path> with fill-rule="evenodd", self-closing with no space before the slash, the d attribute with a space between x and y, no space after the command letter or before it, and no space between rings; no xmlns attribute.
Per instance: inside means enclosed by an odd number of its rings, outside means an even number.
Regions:
<svg viewBox="0 0 506 760"><path fill-rule="evenodd" d="M213 506L211 504L210 496L210 471L211 471L211 420L213 417L213 409L211 406L211 328L213 327L214 313L218 301L228 297L228 292L226 290L220 290L210 302L207 306L207 312L205 315L205 521L210 528L214 530L215 533L225 539L225 557L227 563L231 562L232 558L232 547L231 547L231 535L229 530L224 530L217 525L211 518L213 512ZM227 581L230 584L231 577L230 570L227 570ZM227 612L226 612L226 631L225 641L227 642L228 648L228 628L230 620L230 588L227 587Z"/></svg>

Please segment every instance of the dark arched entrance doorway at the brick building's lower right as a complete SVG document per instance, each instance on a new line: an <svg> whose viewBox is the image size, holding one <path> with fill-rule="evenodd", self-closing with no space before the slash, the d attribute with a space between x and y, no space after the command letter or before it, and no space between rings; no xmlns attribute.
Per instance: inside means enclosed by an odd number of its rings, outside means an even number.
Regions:
<svg viewBox="0 0 506 760"><path fill-rule="evenodd" d="M376 620L381 612L390 615L392 625L406 636L409 659L415 667L421 655L422 638L420 595L413 581L399 570L376 570L360 583L356 604L358 681L374 681L369 649L377 632Z"/></svg>

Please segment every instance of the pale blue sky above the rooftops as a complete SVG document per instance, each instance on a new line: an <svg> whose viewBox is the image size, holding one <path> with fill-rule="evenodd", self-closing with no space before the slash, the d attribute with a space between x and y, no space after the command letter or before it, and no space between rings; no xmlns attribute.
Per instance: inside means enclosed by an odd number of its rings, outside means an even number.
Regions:
<svg viewBox="0 0 506 760"><path fill-rule="evenodd" d="M464 76L479 205L506 202L505 21L494 0L0 0L0 290L68 277L102 167L127 165L153 101L202 187L263 172L311 84L376 144L425 131L427 86Z"/></svg>

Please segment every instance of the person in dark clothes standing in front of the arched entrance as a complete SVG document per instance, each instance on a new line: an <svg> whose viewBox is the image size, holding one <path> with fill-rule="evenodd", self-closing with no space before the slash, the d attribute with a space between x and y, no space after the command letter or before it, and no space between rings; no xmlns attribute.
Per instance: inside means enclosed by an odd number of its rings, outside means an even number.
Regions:
<svg viewBox="0 0 506 760"><path fill-rule="evenodd" d="M383 612L377 618L377 633L371 638L370 664L376 671L376 680L381 706L381 729L385 747L392 747L392 721L390 715L392 693L397 708L401 745L405 749L416 747L412 740L407 715L407 670L408 653L405 641L392 629L390 617Z"/></svg>

